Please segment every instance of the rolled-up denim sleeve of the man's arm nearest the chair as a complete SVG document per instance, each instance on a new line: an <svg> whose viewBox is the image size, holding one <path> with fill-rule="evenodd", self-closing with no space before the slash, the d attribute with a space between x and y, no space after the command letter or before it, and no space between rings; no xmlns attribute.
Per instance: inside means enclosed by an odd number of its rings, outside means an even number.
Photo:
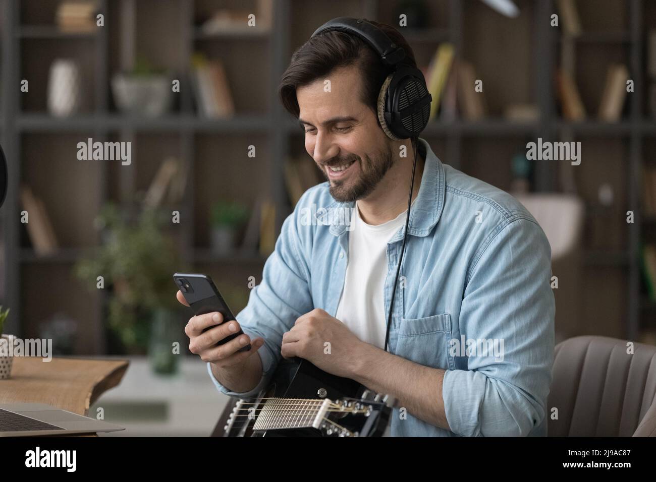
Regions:
<svg viewBox="0 0 656 482"><path fill-rule="evenodd" d="M533 220L497 229L472 261L459 326L467 339L496 340L502 356L474 353L467 370L445 372L446 417L458 435L529 435L547 412L556 310L551 249Z"/></svg>

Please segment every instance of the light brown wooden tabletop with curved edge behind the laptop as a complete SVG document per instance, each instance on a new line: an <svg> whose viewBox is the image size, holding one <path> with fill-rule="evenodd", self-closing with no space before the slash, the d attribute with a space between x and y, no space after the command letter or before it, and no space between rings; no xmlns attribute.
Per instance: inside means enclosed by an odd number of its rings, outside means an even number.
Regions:
<svg viewBox="0 0 656 482"><path fill-rule="evenodd" d="M121 382L129 361L15 357L11 378L0 380L0 403L47 403L87 416L103 392Z"/></svg>

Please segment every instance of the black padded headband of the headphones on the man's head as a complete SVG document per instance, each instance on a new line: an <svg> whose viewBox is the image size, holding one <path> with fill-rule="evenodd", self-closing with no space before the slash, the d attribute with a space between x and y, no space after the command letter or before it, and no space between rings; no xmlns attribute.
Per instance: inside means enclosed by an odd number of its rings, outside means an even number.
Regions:
<svg viewBox="0 0 656 482"><path fill-rule="evenodd" d="M343 31L357 35L371 45L386 66L394 66L405 58L405 50L390 40L384 31L371 24L366 18L337 17L329 20L317 30L312 37L325 31Z"/></svg>

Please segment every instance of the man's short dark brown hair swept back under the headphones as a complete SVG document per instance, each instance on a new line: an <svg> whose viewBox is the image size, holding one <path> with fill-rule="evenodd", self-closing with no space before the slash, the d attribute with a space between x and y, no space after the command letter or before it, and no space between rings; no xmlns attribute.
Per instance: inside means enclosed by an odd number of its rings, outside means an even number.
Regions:
<svg viewBox="0 0 656 482"><path fill-rule="evenodd" d="M403 35L396 28L369 20L396 45L403 47L405 58L401 64L417 67L415 54ZM376 112L378 94L392 68L385 66L377 52L357 35L342 31L326 31L311 37L291 56L289 67L283 73L279 85L280 100L285 109L298 117L300 108L296 89L325 77L340 67L358 66L363 75L362 102Z"/></svg>

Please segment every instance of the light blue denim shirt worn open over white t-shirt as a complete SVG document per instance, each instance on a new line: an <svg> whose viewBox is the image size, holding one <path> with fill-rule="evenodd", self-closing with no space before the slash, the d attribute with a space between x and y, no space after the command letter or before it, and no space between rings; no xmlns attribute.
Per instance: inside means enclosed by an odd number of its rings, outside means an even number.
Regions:
<svg viewBox="0 0 656 482"><path fill-rule="evenodd" d="M451 431L396 408L391 435L546 435L555 315L550 245L514 197L441 163L419 141L426 163L411 209L389 350L446 371L442 396ZM300 315L321 308L335 316L354 205L335 201L327 182L302 195L264 264L262 283L237 315L247 334L265 340L258 351L262 380L250 392L231 392L208 363L220 392L255 395L281 359L283 333ZM387 247L385 313L404 229Z"/></svg>

